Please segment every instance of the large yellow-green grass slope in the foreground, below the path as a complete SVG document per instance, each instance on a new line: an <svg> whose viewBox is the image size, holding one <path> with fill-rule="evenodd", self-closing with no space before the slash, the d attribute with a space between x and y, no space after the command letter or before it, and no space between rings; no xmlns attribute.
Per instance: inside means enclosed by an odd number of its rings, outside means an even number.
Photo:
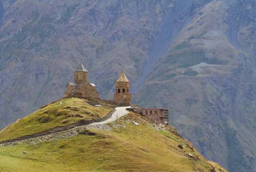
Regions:
<svg viewBox="0 0 256 172"><path fill-rule="evenodd" d="M110 131L85 129L69 139L0 147L0 171L213 172L211 163L171 126L134 113L108 125ZM215 170L226 172L221 166Z"/></svg>

